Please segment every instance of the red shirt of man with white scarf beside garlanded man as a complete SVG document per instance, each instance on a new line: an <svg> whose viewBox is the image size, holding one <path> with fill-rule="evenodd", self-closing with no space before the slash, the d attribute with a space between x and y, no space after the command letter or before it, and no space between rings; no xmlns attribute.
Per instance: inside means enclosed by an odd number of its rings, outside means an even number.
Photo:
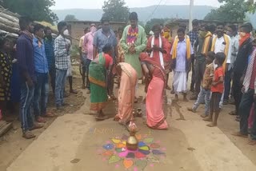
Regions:
<svg viewBox="0 0 256 171"><path fill-rule="evenodd" d="M150 50L151 49L152 38L153 38L152 36L149 38L149 40L147 42L147 45L146 45L146 50ZM166 54L163 54L162 57L163 57L163 60L166 61L167 54L170 54L170 52L168 50L168 46L167 46L168 42L166 42L166 38L161 37L161 39L162 39L162 49L166 50ZM154 43L153 44L159 47L159 38L154 38ZM159 57L159 51L157 51L157 50L153 51L153 58L152 59L155 62L158 62L159 65L161 66L160 57Z"/></svg>

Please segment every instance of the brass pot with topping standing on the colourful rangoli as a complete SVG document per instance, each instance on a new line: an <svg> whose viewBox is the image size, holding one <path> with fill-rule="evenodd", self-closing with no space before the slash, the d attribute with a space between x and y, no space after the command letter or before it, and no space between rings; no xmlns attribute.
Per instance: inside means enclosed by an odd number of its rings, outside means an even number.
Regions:
<svg viewBox="0 0 256 171"><path fill-rule="evenodd" d="M126 149L136 151L138 149L138 139L135 134L138 132L137 126L130 122L129 125L130 137L126 141Z"/></svg>

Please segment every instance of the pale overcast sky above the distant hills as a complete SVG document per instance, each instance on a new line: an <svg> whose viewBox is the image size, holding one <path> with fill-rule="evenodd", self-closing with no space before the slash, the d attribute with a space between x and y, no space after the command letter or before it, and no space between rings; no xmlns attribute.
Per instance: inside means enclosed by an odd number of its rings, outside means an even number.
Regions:
<svg viewBox="0 0 256 171"><path fill-rule="evenodd" d="M55 0L51 9L101 9L105 0ZM144 7L158 5L161 0L125 0L129 7ZM190 0L162 0L160 5L188 5ZM218 0L194 0L194 5L219 6Z"/></svg>

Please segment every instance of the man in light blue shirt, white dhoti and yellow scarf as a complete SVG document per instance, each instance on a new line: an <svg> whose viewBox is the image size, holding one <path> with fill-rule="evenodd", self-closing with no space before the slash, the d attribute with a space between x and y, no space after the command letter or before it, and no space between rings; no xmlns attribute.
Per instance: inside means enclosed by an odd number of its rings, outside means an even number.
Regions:
<svg viewBox="0 0 256 171"><path fill-rule="evenodd" d="M185 38L185 30L179 28L177 31L178 39L175 38L174 45L170 54L172 54L174 70L174 92L175 99L178 100L178 93L183 94L183 100L187 101L187 71L189 70L190 56L194 54L190 39Z"/></svg>

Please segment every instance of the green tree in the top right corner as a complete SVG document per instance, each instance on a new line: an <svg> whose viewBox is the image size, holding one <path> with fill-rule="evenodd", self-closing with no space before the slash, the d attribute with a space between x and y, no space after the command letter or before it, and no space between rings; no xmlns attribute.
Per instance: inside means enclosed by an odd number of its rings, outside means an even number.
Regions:
<svg viewBox="0 0 256 171"><path fill-rule="evenodd" d="M255 4L253 0L218 0L225 2L217 10L211 10L206 15L205 20L218 20L222 22L238 22L246 18L246 13L255 12Z"/></svg>

